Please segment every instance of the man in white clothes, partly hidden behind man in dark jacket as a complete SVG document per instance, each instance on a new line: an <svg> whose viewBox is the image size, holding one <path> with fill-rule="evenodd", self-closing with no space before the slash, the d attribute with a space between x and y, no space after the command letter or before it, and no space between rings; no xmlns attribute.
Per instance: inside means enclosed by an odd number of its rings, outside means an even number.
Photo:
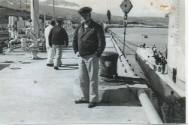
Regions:
<svg viewBox="0 0 188 125"><path fill-rule="evenodd" d="M49 34L52 28L55 26L55 21L52 20L51 23L45 28L44 35L45 35L45 41L46 41L46 51L47 51L47 66L53 66L53 57L55 55L55 51L52 47L49 45Z"/></svg>

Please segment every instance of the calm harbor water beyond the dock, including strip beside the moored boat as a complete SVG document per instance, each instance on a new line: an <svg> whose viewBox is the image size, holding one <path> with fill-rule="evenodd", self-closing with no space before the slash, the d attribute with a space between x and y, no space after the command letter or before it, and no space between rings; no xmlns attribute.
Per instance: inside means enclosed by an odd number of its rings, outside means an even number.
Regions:
<svg viewBox="0 0 188 125"><path fill-rule="evenodd" d="M112 28L122 43L118 43L123 51L124 28ZM154 44L158 51L165 53L168 41L168 28L148 28L148 27L128 27L126 28L124 52L134 72L141 78L146 78L137 61L135 60L136 49L143 43L146 47L152 47Z"/></svg>

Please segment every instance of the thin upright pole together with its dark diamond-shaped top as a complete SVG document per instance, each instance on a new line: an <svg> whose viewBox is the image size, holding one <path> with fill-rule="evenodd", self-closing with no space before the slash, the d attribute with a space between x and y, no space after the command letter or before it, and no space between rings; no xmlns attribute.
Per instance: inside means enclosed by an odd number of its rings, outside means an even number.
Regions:
<svg viewBox="0 0 188 125"><path fill-rule="evenodd" d="M123 42L123 54L125 54L125 35L126 35L126 27L127 27L127 14L132 9L133 5L130 0L123 0L120 4L120 8L124 13L124 42Z"/></svg>

